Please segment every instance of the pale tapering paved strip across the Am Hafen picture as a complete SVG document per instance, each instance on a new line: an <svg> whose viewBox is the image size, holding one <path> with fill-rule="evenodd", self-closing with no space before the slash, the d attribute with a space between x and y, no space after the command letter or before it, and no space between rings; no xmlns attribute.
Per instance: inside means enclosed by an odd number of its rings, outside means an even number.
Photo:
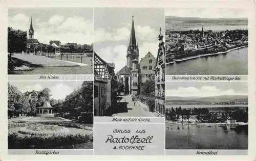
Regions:
<svg viewBox="0 0 256 161"><path fill-rule="evenodd" d="M77 63L77 62L69 62L69 61L62 61L62 60L56 60L44 56L34 56L34 55L28 55L28 54L20 54L20 53L14 53L12 57L27 61L32 64L45 66L45 67L65 67L65 66L86 66L87 64L83 63Z"/></svg>

